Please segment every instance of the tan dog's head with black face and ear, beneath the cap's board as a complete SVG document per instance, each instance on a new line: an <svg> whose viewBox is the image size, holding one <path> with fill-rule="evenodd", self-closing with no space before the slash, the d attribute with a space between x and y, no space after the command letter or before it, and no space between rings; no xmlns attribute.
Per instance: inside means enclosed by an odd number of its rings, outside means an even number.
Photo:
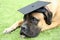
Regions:
<svg viewBox="0 0 60 40"><path fill-rule="evenodd" d="M21 35L26 37L37 36L43 25L50 25L52 20L52 13L46 8L42 7L29 14L24 15L24 23L21 25Z"/></svg>

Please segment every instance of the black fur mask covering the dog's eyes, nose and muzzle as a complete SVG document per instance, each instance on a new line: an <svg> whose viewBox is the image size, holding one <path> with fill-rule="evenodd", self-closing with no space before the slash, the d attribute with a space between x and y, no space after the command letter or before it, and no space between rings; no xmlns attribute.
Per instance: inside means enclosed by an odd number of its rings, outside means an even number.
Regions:
<svg viewBox="0 0 60 40"><path fill-rule="evenodd" d="M28 16L28 18L27 15L24 16L24 25L26 28L21 27L20 35L25 35L26 37L36 37L40 33L40 28L37 27L39 20L31 16L31 14Z"/></svg>

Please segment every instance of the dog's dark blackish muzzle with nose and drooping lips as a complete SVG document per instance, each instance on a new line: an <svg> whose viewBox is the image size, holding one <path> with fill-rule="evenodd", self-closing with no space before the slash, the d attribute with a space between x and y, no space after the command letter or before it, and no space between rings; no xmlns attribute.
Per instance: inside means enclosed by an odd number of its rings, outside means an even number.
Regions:
<svg viewBox="0 0 60 40"><path fill-rule="evenodd" d="M25 37L36 37L40 33L40 29L34 24L28 26L26 24L22 25L20 35L24 35Z"/></svg>

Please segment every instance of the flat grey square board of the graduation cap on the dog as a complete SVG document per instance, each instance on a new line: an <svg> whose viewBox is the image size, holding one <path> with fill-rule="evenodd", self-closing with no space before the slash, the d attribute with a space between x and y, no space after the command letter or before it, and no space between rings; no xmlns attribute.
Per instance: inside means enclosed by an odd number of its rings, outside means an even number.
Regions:
<svg viewBox="0 0 60 40"><path fill-rule="evenodd" d="M23 13L23 14L28 14L28 13L33 12L41 7L48 5L49 3L50 2L37 1L37 2L34 2L34 3L24 7L24 8L19 9L18 11Z"/></svg>

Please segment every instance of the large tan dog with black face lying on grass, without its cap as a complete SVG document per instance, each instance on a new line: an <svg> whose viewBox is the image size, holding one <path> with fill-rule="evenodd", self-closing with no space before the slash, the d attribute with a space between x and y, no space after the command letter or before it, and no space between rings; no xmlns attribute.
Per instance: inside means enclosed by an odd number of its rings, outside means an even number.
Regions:
<svg viewBox="0 0 60 40"><path fill-rule="evenodd" d="M30 14L24 15L22 21L17 21L3 33L10 33L20 27L20 35L36 37L41 31L45 31L60 25L60 0L40 0L51 2Z"/></svg>

